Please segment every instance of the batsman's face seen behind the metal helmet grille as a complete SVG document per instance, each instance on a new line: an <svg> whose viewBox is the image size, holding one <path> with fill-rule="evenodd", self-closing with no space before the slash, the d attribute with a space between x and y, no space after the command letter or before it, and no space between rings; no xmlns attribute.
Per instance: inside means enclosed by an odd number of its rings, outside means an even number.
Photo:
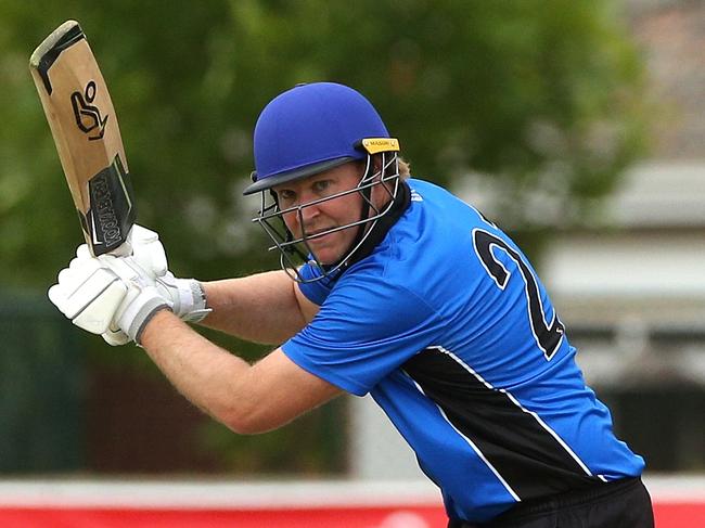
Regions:
<svg viewBox="0 0 705 528"><path fill-rule="evenodd" d="M349 191L358 185L363 167L359 163L347 163L331 170L305 178L303 180L283 183L273 188L281 210L298 207L309 202L325 198L334 194ZM323 236L312 235L346 226L360 220L362 196L352 192L337 198L323 201L316 205L295 209L283 215L284 222L294 237L304 233L308 245L322 265L337 262L349 249L359 227L352 227Z"/></svg>

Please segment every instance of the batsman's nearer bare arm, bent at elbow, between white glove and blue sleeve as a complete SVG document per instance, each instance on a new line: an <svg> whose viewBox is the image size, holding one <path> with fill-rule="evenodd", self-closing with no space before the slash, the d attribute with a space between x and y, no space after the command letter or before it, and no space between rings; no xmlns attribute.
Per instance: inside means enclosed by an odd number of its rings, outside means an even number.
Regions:
<svg viewBox="0 0 705 528"><path fill-rule="evenodd" d="M341 394L281 349L251 365L168 310L149 321L141 345L187 399L241 434L280 427Z"/></svg>

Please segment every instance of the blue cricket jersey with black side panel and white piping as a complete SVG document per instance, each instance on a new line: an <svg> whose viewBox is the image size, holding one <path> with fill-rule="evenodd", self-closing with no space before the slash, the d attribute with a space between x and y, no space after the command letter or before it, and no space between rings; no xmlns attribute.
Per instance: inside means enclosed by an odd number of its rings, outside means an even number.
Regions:
<svg viewBox="0 0 705 528"><path fill-rule="evenodd" d="M320 311L286 356L370 392L451 518L640 475L524 254L446 190L408 183L409 207L371 255L300 285Z"/></svg>

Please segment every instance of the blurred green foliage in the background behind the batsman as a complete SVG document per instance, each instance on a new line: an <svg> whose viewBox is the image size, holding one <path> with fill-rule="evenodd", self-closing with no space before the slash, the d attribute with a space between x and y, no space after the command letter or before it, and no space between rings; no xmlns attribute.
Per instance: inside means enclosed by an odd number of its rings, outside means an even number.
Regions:
<svg viewBox="0 0 705 528"><path fill-rule="evenodd" d="M298 82L333 80L364 93L414 176L451 186L491 181L493 220L514 227L529 253L546 234L536 196L551 199L564 222L579 222L644 149L643 67L619 7L0 0L0 287L43 295L81 242L27 68L34 48L67 18L81 23L108 83L140 223L159 232L176 274L210 280L277 266L249 222L258 201L241 192L259 111ZM265 351L208 335L251 358ZM91 364L154 373L136 350L78 340ZM248 460L246 469L279 471L293 460L319 471L335 466L339 446L321 449L313 438L308 450L282 447L289 456L271 446L297 430L325 437L335 428L328 412L260 440L209 425L201 442L230 453L226 468Z"/></svg>

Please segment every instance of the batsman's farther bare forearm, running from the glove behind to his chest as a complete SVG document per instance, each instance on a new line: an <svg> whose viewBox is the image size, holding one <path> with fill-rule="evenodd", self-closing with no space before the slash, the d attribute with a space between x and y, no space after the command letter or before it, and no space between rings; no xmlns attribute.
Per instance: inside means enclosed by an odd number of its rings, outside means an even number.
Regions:
<svg viewBox="0 0 705 528"><path fill-rule="evenodd" d="M242 279L204 282L213 312L205 326L245 340L280 344L299 332L306 321L294 294L294 282L283 271Z"/></svg>

